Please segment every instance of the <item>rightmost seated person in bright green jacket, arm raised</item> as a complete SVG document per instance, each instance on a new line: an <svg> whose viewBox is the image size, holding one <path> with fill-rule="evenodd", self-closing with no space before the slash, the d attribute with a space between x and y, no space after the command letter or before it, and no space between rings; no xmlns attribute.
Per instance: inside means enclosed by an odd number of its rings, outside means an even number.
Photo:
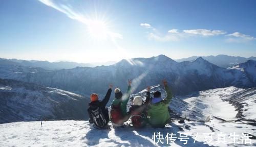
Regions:
<svg viewBox="0 0 256 147"><path fill-rule="evenodd" d="M168 106L172 100L173 94L168 88L166 80L163 80L163 85L165 87L165 91L167 92L167 97L162 100L161 92L156 91L154 92L154 97L148 105L148 121L153 128L163 128L170 120Z"/></svg>

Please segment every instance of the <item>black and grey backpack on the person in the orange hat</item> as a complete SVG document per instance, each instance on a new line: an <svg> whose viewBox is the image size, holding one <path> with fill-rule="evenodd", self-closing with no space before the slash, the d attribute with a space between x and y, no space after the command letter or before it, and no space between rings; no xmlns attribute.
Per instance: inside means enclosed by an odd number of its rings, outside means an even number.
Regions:
<svg viewBox="0 0 256 147"><path fill-rule="evenodd" d="M96 110L89 109L89 113L92 115L93 122L97 127L106 126L106 118L99 107Z"/></svg>

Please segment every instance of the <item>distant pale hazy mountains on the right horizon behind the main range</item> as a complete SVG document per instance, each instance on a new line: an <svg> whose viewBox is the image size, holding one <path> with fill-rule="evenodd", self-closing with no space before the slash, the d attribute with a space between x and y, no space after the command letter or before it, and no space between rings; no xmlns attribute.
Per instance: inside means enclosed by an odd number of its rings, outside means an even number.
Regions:
<svg viewBox="0 0 256 147"><path fill-rule="evenodd" d="M199 56L192 56L188 58L182 58L182 59L177 59L175 61L177 62L183 62L183 61L192 61L199 58ZM202 56L205 60L209 61L210 63L213 63L215 65L218 65L220 67L230 67L239 63L246 62L248 60L255 60L256 57L249 57L249 58L244 58L244 57L235 57L235 56L228 56L228 55L218 55L218 56Z"/></svg>

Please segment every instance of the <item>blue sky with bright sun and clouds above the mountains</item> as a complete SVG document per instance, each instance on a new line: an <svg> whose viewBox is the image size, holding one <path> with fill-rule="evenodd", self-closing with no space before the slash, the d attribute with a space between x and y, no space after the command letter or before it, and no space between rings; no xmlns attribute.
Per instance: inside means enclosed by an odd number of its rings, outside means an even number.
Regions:
<svg viewBox="0 0 256 147"><path fill-rule="evenodd" d="M1 58L256 56L255 1L0 1Z"/></svg>

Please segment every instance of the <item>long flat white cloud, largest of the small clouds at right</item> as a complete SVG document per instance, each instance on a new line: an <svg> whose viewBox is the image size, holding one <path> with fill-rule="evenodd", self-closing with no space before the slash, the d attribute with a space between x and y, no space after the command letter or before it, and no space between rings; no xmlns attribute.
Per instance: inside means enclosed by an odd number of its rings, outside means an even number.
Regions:
<svg viewBox="0 0 256 147"><path fill-rule="evenodd" d="M221 30L206 30L206 29L196 29L196 30L183 30L184 33L194 34L194 35L202 35L202 36L216 36L223 35L226 32Z"/></svg>

